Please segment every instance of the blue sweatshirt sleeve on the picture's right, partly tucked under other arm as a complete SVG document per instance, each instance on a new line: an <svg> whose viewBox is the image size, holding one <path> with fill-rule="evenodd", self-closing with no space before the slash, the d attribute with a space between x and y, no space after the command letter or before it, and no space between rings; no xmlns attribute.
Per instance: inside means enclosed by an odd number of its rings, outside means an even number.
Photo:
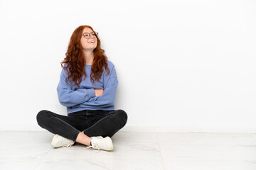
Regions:
<svg viewBox="0 0 256 170"><path fill-rule="evenodd" d="M104 84L105 86L103 94L101 96L92 98L91 100L94 102L90 102L90 106L101 106L102 108L114 106L118 85L117 73L114 65L112 69L110 69L110 74L106 76Z"/></svg>

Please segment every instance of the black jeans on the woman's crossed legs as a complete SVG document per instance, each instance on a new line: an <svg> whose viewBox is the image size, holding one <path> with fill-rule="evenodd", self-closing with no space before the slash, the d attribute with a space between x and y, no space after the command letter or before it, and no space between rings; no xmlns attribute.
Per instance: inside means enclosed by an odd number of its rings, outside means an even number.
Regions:
<svg viewBox="0 0 256 170"><path fill-rule="evenodd" d="M43 110L36 115L36 120L41 128L75 141L82 131L89 137L112 137L127 123L127 113L123 110L85 110L66 116Z"/></svg>

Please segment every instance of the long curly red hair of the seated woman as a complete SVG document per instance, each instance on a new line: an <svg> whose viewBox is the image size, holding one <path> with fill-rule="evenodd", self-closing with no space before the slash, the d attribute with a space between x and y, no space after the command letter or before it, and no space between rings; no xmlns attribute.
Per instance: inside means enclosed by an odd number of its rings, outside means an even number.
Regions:
<svg viewBox="0 0 256 170"><path fill-rule="evenodd" d="M70 42L68 44L68 50L65 53L65 58L63 62L60 62L61 67L68 72L68 77L65 79L65 82L68 83L68 79L70 80L71 85L80 86L82 81L82 75L87 77L85 72L85 57L82 52L82 45L80 42L80 38L82 36L82 30L84 28L90 28L91 26L79 26L76 28L71 35ZM92 29L93 32L95 30ZM96 34L95 34L96 35ZM92 84L95 81L99 81L102 76L103 67L105 67L107 74L110 74L110 69L107 65L107 56L105 55L105 50L100 48L100 39L96 35L97 38L97 47L93 50L93 62L92 62L92 72L90 74L90 80ZM63 66L63 64L65 66ZM85 78L84 78L85 79Z"/></svg>

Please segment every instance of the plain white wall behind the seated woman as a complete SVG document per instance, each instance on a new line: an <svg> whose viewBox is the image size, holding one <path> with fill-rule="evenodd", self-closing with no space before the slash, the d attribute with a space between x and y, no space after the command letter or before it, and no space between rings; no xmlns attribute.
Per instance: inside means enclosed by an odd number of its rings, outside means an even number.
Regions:
<svg viewBox="0 0 256 170"><path fill-rule="evenodd" d="M56 87L73 30L115 64L126 130L256 132L253 0L0 1L0 130L66 115Z"/></svg>

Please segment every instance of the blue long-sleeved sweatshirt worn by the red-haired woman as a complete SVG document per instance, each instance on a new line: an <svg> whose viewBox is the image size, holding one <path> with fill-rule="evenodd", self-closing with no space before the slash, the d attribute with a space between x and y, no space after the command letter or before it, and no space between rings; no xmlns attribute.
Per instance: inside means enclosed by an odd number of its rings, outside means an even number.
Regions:
<svg viewBox="0 0 256 170"><path fill-rule="evenodd" d="M67 107L68 113L73 113L82 110L114 110L114 101L117 91L117 73L114 69L114 64L107 61L110 69L110 74L107 75L105 67L103 68L100 81L95 81L94 84L90 81L90 72L92 65L85 65L87 77L82 81L80 87L65 83L65 78L68 74L62 69L60 81L57 86L58 99L60 104ZM104 93L101 96L95 96L94 89L103 89Z"/></svg>

